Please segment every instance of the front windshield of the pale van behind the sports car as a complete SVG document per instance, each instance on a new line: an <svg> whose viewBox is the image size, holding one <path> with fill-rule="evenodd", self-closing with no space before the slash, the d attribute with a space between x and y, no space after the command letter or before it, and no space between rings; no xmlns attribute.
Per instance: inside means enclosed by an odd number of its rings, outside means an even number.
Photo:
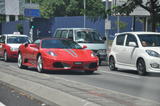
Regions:
<svg viewBox="0 0 160 106"><path fill-rule="evenodd" d="M78 30L75 41L78 43L103 43L100 34L94 30Z"/></svg>

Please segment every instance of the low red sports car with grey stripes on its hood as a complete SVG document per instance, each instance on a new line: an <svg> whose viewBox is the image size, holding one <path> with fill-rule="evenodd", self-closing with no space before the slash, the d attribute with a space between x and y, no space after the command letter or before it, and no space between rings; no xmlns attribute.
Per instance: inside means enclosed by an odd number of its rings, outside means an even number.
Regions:
<svg viewBox="0 0 160 106"><path fill-rule="evenodd" d="M18 67L45 70L83 70L92 74L98 68L98 57L91 50L66 39L46 38L32 44L22 44L18 52Z"/></svg>

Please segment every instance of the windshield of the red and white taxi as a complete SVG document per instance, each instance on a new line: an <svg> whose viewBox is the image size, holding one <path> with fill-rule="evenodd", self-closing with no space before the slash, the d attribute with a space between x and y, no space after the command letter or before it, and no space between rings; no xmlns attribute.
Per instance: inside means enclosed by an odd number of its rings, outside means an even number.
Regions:
<svg viewBox="0 0 160 106"><path fill-rule="evenodd" d="M7 37L7 43L9 44L21 44L29 42L28 37L24 36L8 36Z"/></svg>

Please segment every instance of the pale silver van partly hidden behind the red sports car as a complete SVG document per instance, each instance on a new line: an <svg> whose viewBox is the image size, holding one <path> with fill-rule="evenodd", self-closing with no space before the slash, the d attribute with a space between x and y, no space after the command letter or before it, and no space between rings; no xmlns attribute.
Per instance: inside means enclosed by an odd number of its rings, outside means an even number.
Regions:
<svg viewBox="0 0 160 106"><path fill-rule="evenodd" d="M86 45L99 57L99 65L107 60L106 44L101 35L91 28L58 28L54 38L66 38L77 42L79 45Z"/></svg>

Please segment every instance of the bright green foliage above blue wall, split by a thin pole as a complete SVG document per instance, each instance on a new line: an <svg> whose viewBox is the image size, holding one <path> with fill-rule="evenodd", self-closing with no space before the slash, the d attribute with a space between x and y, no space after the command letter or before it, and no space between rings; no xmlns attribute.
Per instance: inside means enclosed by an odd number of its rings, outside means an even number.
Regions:
<svg viewBox="0 0 160 106"><path fill-rule="evenodd" d="M40 4L42 17L56 16L90 16L93 19L105 17L105 5L102 0L86 0L84 10L83 0L37 0Z"/></svg>

